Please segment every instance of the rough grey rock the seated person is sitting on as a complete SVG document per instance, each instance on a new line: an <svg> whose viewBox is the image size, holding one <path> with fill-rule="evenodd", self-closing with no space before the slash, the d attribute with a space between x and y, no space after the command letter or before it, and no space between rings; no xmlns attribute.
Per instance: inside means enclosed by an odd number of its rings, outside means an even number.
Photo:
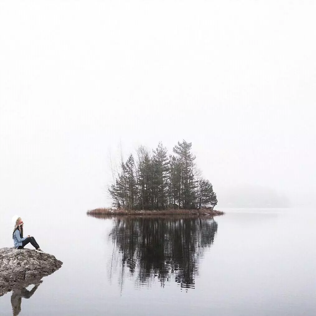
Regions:
<svg viewBox="0 0 316 316"><path fill-rule="evenodd" d="M18 287L36 284L63 263L32 249L0 248L0 296Z"/></svg>

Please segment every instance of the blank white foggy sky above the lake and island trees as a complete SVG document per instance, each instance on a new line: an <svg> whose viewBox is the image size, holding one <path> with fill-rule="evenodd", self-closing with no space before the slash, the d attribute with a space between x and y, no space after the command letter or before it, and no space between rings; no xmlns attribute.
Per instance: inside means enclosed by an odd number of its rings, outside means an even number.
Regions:
<svg viewBox="0 0 316 316"><path fill-rule="evenodd" d="M109 152L192 142L221 203L313 202L313 1L1 1L0 213L110 204Z"/></svg>

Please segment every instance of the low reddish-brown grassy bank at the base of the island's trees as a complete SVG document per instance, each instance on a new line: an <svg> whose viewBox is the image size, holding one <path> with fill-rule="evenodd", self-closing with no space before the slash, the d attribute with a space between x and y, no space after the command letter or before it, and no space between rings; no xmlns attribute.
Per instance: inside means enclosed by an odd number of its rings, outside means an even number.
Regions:
<svg viewBox="0 0 316 316"><path fill-rule="evenodd" d="M112 216L220 216L225 213L222 211L211 209L200 210L183 210L183 209L168 209L168 210L124 210L100 208L88 210L87 215L95 217L112 217Z"/></svg>

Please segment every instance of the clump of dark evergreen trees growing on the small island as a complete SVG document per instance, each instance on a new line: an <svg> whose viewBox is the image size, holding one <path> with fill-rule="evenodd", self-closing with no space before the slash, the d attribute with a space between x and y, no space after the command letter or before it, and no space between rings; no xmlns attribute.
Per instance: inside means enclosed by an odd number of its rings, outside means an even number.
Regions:
<svg viewBox="0 0 316 316"><path fill-rule="evenodd" d="M130 210L213 209L216 193L209 180L197 175L192 143L183 140L174 155L160 142L150 153L140 146L137 160L131 154L109 188L113 206Z"/></svg>

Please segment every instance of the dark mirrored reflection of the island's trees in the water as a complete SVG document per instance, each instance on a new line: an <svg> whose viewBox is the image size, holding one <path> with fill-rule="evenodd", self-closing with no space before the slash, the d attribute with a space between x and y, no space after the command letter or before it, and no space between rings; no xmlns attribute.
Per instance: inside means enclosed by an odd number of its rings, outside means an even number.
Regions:
<svg viewBox="0 0 316 316"><path fill-rule="evenodd" d="M110 276L119 252L122 284L128 269L140 284L158 278L164 286L174 279L181 288L194 288L199 258L213 244L216 232L217 222L209 218L117 218L110 233Z"/></svg>

